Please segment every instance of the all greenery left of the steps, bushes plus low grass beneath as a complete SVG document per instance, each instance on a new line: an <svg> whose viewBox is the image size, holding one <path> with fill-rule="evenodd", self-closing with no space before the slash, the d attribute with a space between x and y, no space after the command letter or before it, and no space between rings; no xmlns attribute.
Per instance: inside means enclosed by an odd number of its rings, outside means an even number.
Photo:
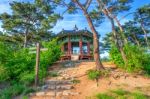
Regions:
<svg viewBox="0 0 150 99"><path fill-rule="evenodd" d="M20 93L27 93L30 90L25 87L30 86L35 78L35 54L29 53L29 49L22 49L19 46L0 42L0 83L9 82L9 88L3 89L0 99L10 99ZM39 78L42 82L47 75L47 68L57 61L61 55L60 45L54 39L50 42L42 43L48 48L40 54ZM17 86L18 85L18 86Z"/></svg>

